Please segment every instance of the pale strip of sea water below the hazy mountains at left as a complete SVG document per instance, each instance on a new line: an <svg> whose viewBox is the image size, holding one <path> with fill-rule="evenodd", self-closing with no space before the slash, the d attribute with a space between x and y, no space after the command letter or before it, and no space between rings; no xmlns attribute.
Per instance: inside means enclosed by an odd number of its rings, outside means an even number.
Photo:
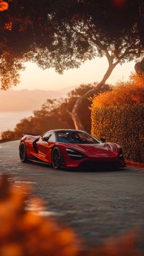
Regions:
<svg viewBox="0 0 144 256"><path fill-rule="evenodd" d="M0 112L0 137L2 131L13 130L16 123L31 115L32 111Z"/></svg>

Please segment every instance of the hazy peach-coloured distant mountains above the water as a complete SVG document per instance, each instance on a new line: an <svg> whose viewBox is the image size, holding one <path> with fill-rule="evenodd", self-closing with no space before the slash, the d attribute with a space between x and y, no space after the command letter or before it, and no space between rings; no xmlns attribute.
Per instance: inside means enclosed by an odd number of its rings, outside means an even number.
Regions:
<svg viewBox="0 0 144 256"><path fill-rule="evenodd" d="M2 111L33 111L40 109L48 98L65 98L70 90L77 86L60 90L0 90L0 112Z"/></svg>

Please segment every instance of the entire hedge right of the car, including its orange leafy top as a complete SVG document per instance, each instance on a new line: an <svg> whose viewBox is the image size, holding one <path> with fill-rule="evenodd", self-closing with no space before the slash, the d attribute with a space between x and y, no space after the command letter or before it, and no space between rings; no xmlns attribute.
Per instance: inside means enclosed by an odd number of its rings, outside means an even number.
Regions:
<svg viewBox="0 0 144 256"><path fill-rule="evenodd" d="M95 96L92 134L121 145L127 159L144 161L144 74L132 75L109 92Z"/></svg>

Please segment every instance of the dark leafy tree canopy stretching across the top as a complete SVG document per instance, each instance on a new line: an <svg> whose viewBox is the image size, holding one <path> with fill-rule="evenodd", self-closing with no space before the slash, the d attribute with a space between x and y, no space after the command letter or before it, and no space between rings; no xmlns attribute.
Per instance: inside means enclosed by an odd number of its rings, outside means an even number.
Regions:
<svg viewBox="0 0 144 256"><path fill-rule="evenodd" d="M139 1L116 3L9 0L0 16L1 89L18 84L27 60L62 73L104 54L120 63L139 57Z"/></svg>

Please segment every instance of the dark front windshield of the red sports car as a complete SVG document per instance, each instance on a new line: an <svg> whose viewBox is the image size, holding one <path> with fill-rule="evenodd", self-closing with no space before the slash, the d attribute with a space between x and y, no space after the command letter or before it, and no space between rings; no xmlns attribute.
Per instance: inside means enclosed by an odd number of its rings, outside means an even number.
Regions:
<svg viewBox="0 0 144 256"><path fill-rule="evenodd" d="M100 142L88 133L80 131L59 131L57 141L71 144L99 144Z"/></svg>

